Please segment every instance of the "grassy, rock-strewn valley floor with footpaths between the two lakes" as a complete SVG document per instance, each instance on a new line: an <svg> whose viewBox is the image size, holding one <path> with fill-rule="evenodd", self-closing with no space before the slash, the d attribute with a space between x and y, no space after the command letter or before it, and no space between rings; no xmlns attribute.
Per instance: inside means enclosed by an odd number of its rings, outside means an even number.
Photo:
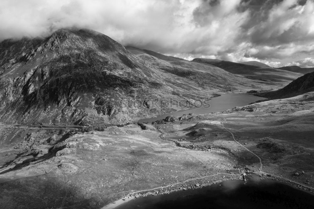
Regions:
<svg viewBox="0 0 314 209"><path fill-rule="evenodd" d="M314 190L314 92L167 124L59 135L28 141L31 150L1 147L3 207L113 207L119 199L243 179L243 173Z"/></svg>

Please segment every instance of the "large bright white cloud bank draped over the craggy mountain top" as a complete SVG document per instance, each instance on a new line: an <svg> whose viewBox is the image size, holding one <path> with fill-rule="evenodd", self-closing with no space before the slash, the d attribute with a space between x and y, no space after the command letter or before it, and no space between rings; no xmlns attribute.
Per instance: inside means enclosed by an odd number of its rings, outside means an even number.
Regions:
<svg viewBox="0 0 314 209"><path fill-rule="evenodd" d="M95 29L124 45L211 55L235 44L248 16L236 11L240 0L232 2L221 0L211 7L203 0L2 0L0 39L45 36L76 26ZM206 26L195 22L195 10L200 8L212 12L202 13Z"/></svg>

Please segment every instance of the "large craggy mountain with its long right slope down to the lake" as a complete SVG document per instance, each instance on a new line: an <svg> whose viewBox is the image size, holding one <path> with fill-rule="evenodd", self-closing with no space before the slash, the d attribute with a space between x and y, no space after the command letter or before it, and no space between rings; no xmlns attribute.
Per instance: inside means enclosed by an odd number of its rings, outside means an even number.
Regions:
<svg viewBox="0 0 314 209"><path fill-rule="evenodd" d="M208 72L197 63L147 56L135 56L91 30L61 29L46 39L5 40L0 43L0 121L126 123L158 113L150 107L155 101L210 98L241 85L219 68ZM135 101L144 105L129 105Z"/></svg>

